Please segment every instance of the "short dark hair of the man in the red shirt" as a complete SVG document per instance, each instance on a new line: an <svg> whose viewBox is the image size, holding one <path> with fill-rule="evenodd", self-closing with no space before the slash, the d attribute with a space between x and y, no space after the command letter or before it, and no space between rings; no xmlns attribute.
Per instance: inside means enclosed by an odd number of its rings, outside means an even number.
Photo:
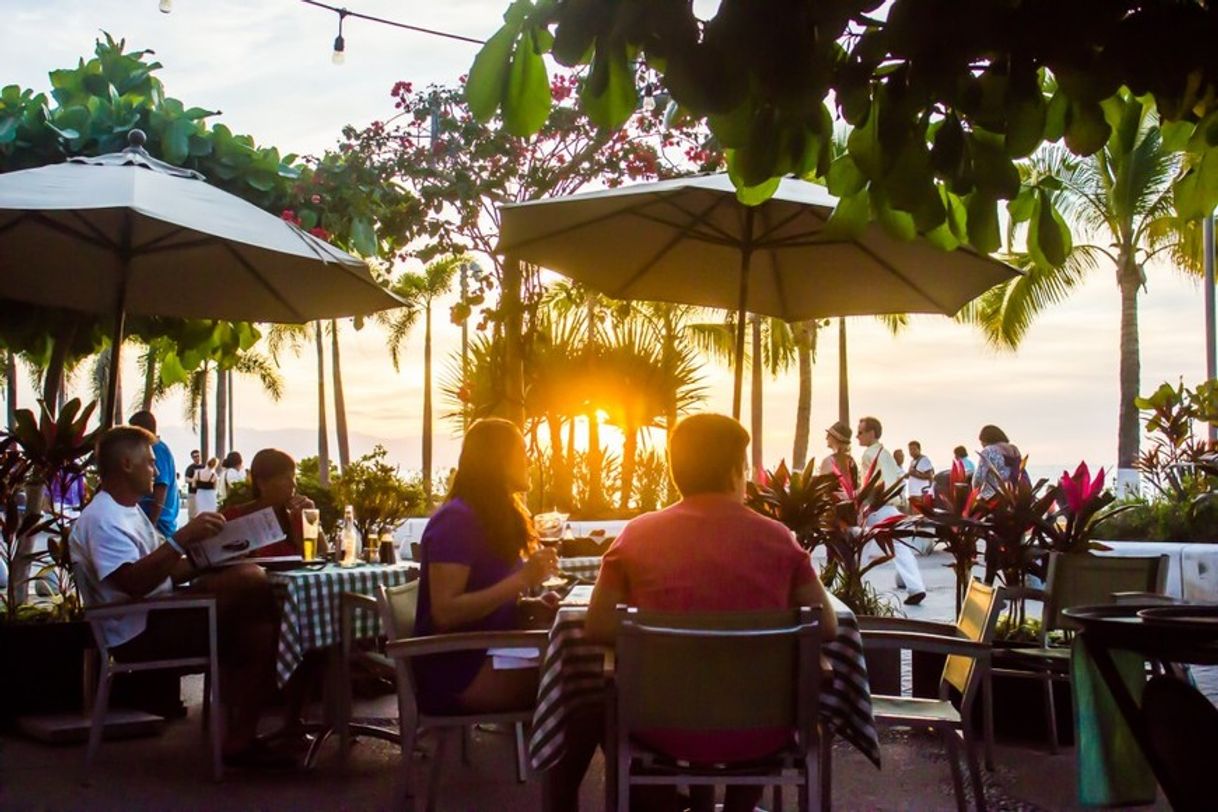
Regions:
<svg viewBox="0 0 1218 812"><path fill-rule="evenodd" d="M669 471L682 497L723 493L744 467L749 432L721 414L695 414L669 436Z"/></svg>

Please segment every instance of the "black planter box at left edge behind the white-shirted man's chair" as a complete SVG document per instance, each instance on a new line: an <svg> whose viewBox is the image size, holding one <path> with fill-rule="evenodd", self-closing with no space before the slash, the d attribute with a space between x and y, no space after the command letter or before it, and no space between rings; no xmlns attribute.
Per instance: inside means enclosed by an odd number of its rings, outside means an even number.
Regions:
<svg viewBox="0 0 1218 812"><path fill-rule="evenodd" d="M89 625L0 625L0 724L29 713L79 712L84 704L84 651Z"/></svg>

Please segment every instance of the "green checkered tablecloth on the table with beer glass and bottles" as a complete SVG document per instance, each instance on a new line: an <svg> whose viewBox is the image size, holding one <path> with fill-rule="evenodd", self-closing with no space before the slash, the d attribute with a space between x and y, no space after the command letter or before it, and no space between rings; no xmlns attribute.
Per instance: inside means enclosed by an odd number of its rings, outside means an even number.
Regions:
<svg viewBox="0 0 1218 812"><path fill-rule="evenodd" d="M340 567L328 564L320 570L268 572L267 577L279 600L279 655L275 672L283 687L304 654L339 643L339 600L345 592L371 595L380 586L395 587L419 577L413 562L361 564ZM356 635L375 637L380 621L371 612L356 612Z"/></svg>

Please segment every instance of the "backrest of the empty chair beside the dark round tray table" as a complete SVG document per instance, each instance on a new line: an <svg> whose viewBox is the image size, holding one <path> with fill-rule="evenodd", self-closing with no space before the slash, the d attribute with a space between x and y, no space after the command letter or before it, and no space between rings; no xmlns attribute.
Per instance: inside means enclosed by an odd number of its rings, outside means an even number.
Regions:
<svg viewBox="0 0 1218 812"><path fill-rule="evenodd" d="M1062 614L1072 606L1113 603L1117 592L1167 590L1168 556L1116 556L1052 553L1045 583L1045 610L1041 637L1054 629L1077 631L1078 626Z"/></svg>

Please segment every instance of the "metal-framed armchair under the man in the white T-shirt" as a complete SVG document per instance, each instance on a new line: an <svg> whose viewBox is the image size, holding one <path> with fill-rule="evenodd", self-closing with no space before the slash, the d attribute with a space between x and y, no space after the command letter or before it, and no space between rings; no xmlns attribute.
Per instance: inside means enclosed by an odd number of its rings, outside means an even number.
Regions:
<svg viewBox="0 0 1218 812"><path fill-rule="evenodd" d="M85 583L77 579L78 584ZM89 595L85 595L86 603ZM166 612L184 611L190 609L207 610L207 654L195 657L175 657L167 660L141 660L136 662L118 662L106 645L102 634L102 621L123 617L134 612ZM216 648L216 599L211 597L164 597L147 600L133 600L118 604L95 605L85 610L85 620L93 629L94 640L97 643L99 674L97 693L94 698L93 719L89 727L89 746L84 758L84 780L89 782L93 771L93 762L101 746L102 733L106 727L106 715L110 710L110 687L116 674L135 673L139 671L177 671L179 673L202 673L203 678L203 729L211 738L212 745L212 777L218 782L224 777L224 765L220 758L220 679L219 660Z"/></svg>

